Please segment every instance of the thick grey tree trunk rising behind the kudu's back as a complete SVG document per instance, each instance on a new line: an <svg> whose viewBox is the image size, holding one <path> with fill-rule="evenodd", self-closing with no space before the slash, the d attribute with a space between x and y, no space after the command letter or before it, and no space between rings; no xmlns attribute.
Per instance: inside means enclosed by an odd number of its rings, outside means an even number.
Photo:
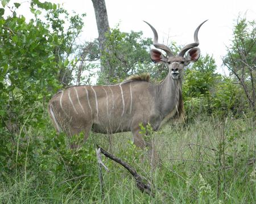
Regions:
<svg viewBox="0 0 256 204"><path fill-rule="evenodd" d="M105 33L109 31L109 20L108 14L106 11L105 0L92 0L94 12L96 16L96 22L98 27L98 44L100 47L100 57L102 56L102 52L105 50ZM106 50L105 50L106 51ZM101 72L104 71L104 67L101 59Z"/></svg>

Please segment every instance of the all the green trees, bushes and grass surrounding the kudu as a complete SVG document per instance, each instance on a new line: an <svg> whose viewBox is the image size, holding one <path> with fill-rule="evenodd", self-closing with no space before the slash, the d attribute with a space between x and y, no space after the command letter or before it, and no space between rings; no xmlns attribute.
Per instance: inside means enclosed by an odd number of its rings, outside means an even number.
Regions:
<svg viewBox="0 0 256 204"><path fill-rule="evenodd" d="M106 34L108 52L100 54L97 41L77 44L84 15L31 1L34 19L25 19L16 15L19 3L1 4L1 203L256 203L255 22L237 18L223 59L229 76L216 73L209 55L187 67L187 117L183 124L170 121L150 132L160 158L152 169L147 151L133 145L130 133L90 133L84 146L71 150L47 115L47 102L57 90L91 84L94 76L97 84L144 72L155 83L162 80L168 70L151 63L152 40L117 26ZM4 15L7 10L11 15ZM170 46L179 50L175 42ZM96 72L100 58L105 69ZM154 186L155 197L141 193L133 177L106 158L110 172L102 170L102 191L96 143L137 169Z"/></svg>

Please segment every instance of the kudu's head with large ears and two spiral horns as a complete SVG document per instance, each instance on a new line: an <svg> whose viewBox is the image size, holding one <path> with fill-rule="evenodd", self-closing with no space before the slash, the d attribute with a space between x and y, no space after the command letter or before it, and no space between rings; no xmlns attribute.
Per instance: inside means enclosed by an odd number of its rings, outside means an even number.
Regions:
<svg viewBox="0 0 256 204"><path fill-rule="evenodd" d="M198 31L207 20L205 20L203 23L199 25L199 27L196 28L196 31L194 33L194 41L191 44L188 44L184 46L183 49L181 49L180 53L177 56L174 56L171 49L168 48L168 46L158 43L158 33L156 32L155 28L152 27L151 24L147 23L150 28L152 29L154 33L154 42L153 45L155 48L162 49L164 52L166 52L167 56L164 56L159 50L151 49L150 50L150 57L152 61L155 63L166 63L169 67L169 74L171 75L172 79L180 79L182 76L182 71L184 69L184 66L187 66L190 62L196 62L197 59L200 57L200 49L197 48L199 45L199 40L197 37ZM188 51L188 53L187 53ZM184 55L186 56L184 57Z"/></svg>

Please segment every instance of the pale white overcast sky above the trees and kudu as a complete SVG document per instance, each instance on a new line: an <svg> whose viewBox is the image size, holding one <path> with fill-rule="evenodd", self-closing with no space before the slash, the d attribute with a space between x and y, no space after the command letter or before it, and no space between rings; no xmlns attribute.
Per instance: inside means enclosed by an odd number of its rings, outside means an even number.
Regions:
<svg viewBox="0 0 256 204"><path fill-rule="evenodd" d="M40 0L42 1L42 0ZM79 40L90 41L98 37L97 24L91 0L48 0L60 3L65 9L78 14L86 13L84 32ZM28 1L22 2L19 14L28 15ZM43 1L42 1L43 2ZM208 19L199 31L201 54L210 54L216 60L217 71L227 74L222 66L222 57L232 40L234 25L238 16L256 20L255 0L105 0L111 28L119 24L123 32L142 31L143 37L153 37L150 27L143 20L153 25L158 31L159 42L185 45L193 42L196 27ZM153 47L152 47L153 48Z"/></svg>

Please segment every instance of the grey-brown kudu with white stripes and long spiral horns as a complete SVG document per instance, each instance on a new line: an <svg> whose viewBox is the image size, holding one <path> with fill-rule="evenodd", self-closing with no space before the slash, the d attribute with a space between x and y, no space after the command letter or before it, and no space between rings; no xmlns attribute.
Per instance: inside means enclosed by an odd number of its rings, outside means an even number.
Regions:
<svg viewBox="0 0 256 204"><path fill-rule="evenodd" d="M184 66L200 57L197 33L203 23L196 28L195 42L184 46L177 56L168 46L158 43L158 33L147 23L154 33L153 45L167 53L164 56L159 50L150 50L152 61L168 65L169 73L163 82L150 83L148 75L131 76L115 85L72 86L59 91L48 105L56 130L69 135L83 131L84 140L91 129L98 133L131 131L135 145L150 146L143 140L140 124L150 124L152 129L158 130L175 114L184 117L181 76Z"/></svg>

